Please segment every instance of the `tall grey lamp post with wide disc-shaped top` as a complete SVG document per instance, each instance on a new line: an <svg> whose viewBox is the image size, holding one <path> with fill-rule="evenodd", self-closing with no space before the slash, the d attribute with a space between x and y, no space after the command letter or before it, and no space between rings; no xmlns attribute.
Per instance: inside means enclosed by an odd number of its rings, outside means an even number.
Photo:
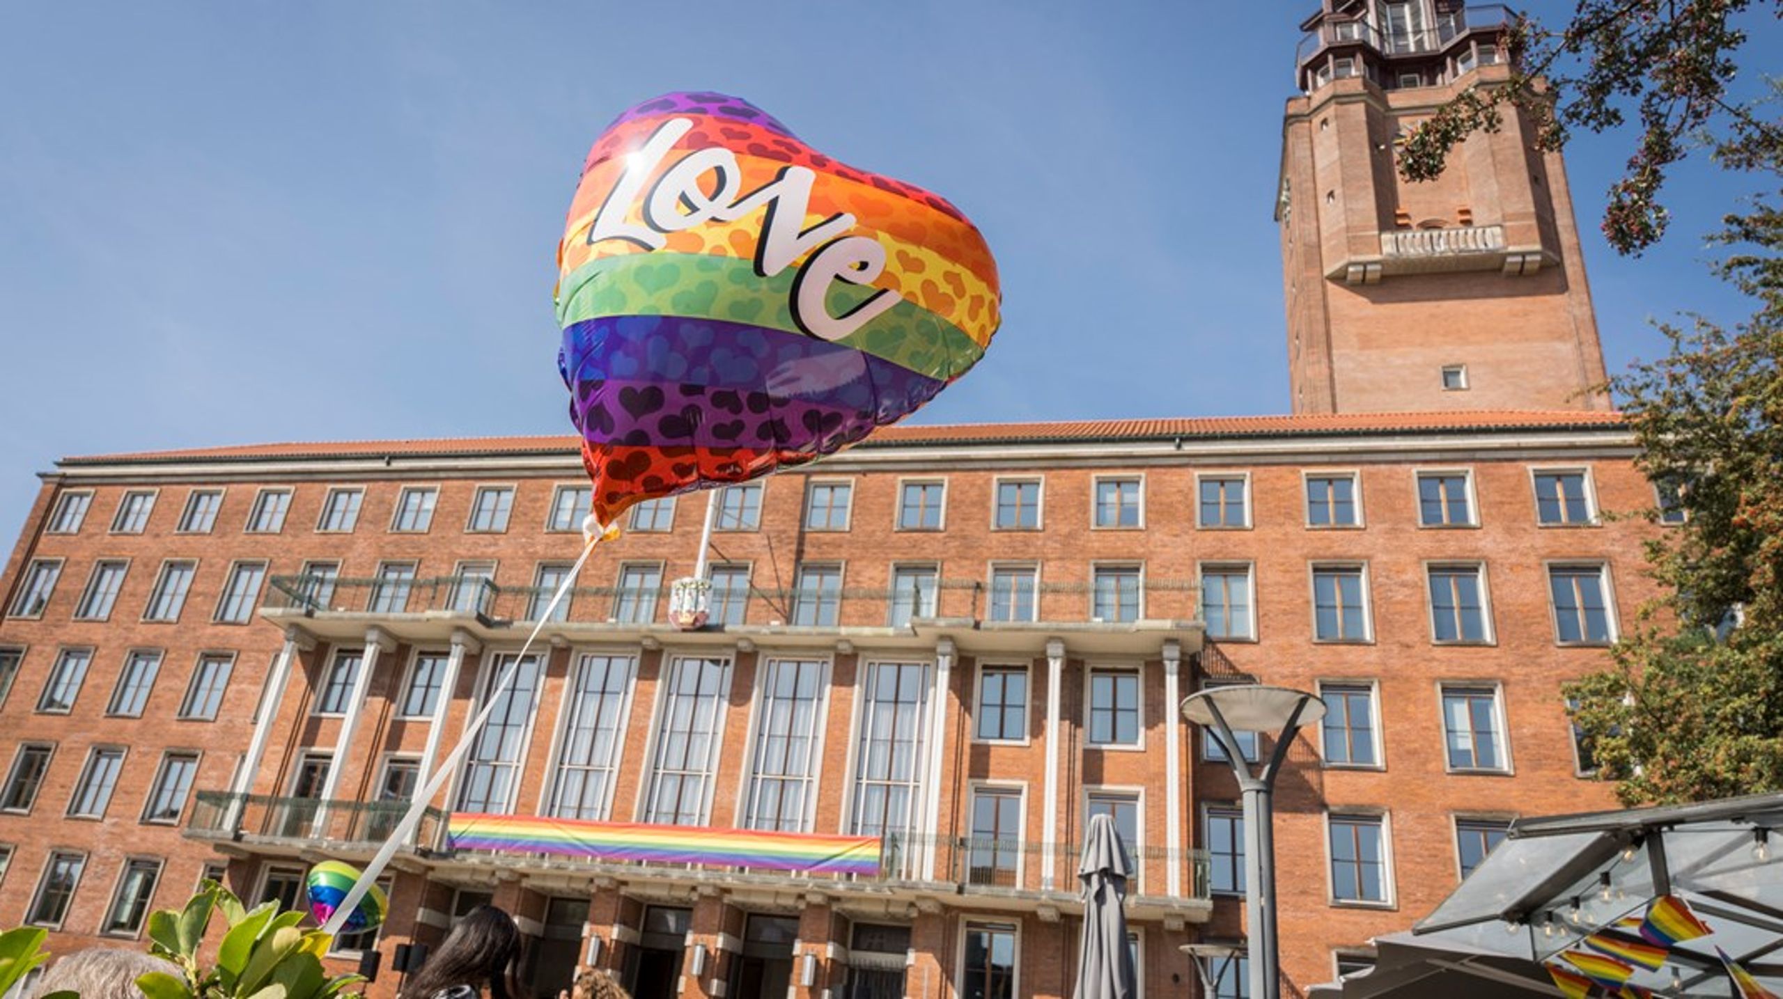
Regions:
<svg viewBox="0 0 1783 999"><path fill-rule="evenodd" d="M1325 702L1305 691L1259 684L1209 687L1182 698L1182 718L1207 728L1225 750L1245 794L1245 908L1250 931L1250 999L1280 999L1275 942L1275 775L1302 725L1325 718ZM1232 732L1275 732L1262 773L1252 773Z"/></svg>

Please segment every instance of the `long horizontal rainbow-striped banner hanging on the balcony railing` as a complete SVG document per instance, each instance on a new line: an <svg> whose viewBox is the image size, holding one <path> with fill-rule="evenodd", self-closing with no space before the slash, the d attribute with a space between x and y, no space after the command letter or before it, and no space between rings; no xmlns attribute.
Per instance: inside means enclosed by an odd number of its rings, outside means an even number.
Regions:
<svg viewBox="0 0 1783 999"><path fill-rule="evenodd" d="M446 826L446 839L453 849L496 853L763 867L808 874L865 874L868 878L879 874L879 837L872 835L809 835L453 812Z"/></svg>

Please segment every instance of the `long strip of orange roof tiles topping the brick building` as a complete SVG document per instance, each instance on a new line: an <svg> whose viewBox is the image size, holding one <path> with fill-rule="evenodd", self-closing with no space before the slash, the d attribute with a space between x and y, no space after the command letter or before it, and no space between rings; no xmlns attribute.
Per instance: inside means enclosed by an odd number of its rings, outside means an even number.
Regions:
<svg viewBox="0 0 1783 999"><path fill-rule="evenodd" d="M1269 436L1385 436L1516 431L1608 431L1623 426L1612 411L1448 411L1448 413L1307 413L1282 417L1180 417L1150 420L1063 420L1038 424L952 424L881 427L858 447L1084 443ZM244 443L136 454L86 454L59 465L141 465L173 461L291 461L317 458L565 454L571 435L467 436L426 440L339 440Z"/></svg>

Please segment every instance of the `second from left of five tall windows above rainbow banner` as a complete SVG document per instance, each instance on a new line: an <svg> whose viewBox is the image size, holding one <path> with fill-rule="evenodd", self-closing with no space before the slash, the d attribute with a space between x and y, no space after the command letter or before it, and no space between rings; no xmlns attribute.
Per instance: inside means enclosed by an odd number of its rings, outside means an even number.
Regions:
<svg viewBox="0 0 1783 999"><path fill-rule="evenodd" d="M563 748L551 778L546 814L562 819L606 819L635 671L637 659L629 655L583 654L576 661L576 686L571 691Z"/></svg>

